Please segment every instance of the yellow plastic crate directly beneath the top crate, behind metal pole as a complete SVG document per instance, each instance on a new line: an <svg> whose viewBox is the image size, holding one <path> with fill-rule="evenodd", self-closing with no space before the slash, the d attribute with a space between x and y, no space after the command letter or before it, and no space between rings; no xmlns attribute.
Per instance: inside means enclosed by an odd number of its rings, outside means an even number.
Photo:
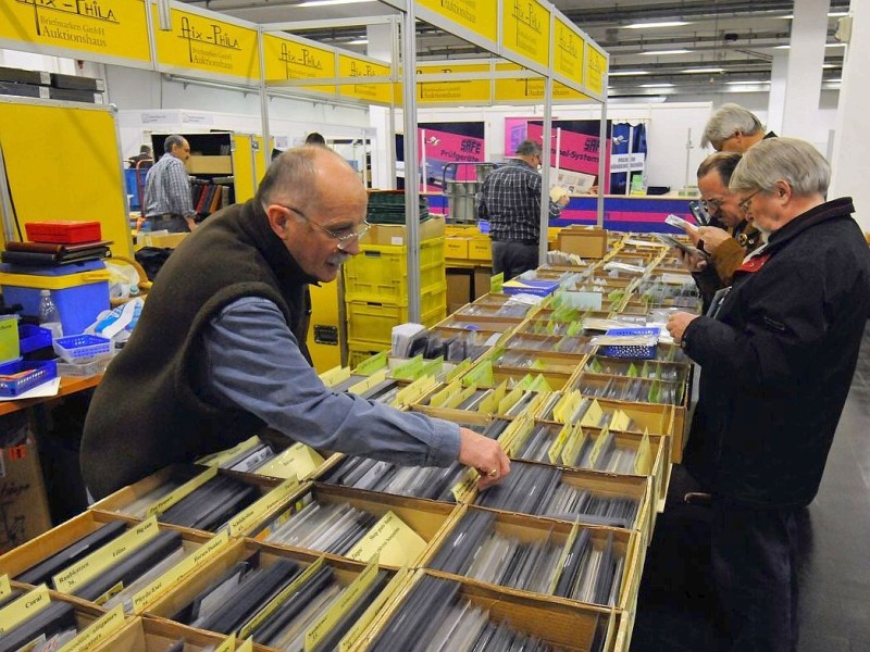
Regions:
<svg viewBox="0 0 870 652"><path fill-rule="evenodd" d="M420 298L421 321L434 326L447 316L447 285ZM393 327L408 321L407 305L351 301L347 303L348 340L390 343Z"/></svg>

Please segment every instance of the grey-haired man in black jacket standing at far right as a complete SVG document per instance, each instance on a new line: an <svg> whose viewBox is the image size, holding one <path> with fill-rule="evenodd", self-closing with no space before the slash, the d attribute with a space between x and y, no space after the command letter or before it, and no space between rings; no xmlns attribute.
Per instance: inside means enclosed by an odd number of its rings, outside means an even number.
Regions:
<svg viewBox="0 0 870 652"><path fill-rule="evenodd" d="M712 493L711 555L729 650L797 649L796 514L816 497L870 315L870 251L852 199L804 140L750 148L729 188L767 243L708 313L675 313L701 367L686 465Z"/></svg>

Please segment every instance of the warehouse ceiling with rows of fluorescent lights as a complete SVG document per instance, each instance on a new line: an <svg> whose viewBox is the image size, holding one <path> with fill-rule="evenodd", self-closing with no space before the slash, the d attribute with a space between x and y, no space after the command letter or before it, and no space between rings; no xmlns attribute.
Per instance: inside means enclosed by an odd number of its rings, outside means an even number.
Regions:
<svg viewBox="0 0 870 652"><path fill-rule="evenodd" d="M187 1L254 23L334 21L294 32L360 53L366 52L366 18L396 13L372 0ZM830 1L823 88L838 88L844 48L834 34L848 3ZM794 10L785 0L556 0L555 5L610 53L608 92L614 99L767 91L773 57L790 45ZM359 21L339 26L345 18ZM637 26L649 23L671 25ZM423 23L417 43L420 63L483 54Z"/></svg>

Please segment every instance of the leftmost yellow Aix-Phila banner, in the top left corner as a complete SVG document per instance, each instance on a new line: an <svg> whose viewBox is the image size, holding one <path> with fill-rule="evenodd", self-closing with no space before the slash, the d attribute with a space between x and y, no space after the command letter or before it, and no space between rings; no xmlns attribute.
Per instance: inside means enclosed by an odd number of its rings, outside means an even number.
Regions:
<svg viewBox="0 0 870 652"><path fill-rule="evenodd" d="M146 18L142 0L3 0L0 39L72 50L87 61L149 63Z"/></svg>

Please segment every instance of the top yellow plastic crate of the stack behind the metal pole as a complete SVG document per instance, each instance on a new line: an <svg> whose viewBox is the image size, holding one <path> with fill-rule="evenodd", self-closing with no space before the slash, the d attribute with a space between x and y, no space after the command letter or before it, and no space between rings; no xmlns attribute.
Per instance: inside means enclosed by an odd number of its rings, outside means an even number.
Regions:
<svg viewBox="0 0 870 652"><path fill-rule="evenodd" d="M364 244L344 265L345 300L408 305L408 248ZM444 238L420 244L420 287L423 293L446 283Z"/></svg>

